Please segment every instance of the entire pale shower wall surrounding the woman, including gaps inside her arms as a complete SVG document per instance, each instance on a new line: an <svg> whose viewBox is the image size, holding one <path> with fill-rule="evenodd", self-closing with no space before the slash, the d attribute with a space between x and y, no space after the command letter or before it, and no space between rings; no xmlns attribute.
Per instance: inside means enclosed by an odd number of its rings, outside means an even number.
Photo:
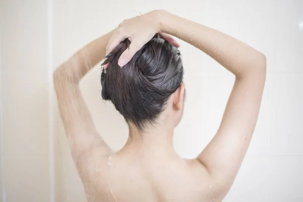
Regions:
<svg viewBox="0 0 303 202"><path fill-rule="evenodd" d="M300 127L303 121L303 29L299 28L299 22L303 21L303 1L49 2L53 8L54 69L123 19L154 9L166 9L219 29L263 52L267 56L268 74L259 121L242 167L224 201L303 201ZM51 95L47 83L48 7L46 0L26 3L1 0L0 3L5 160L2 167L7 201L19 201L18 198L46 201L51 195L49 167L52 166L47 152L47 100ZM187 97L174 143L182 157L193 158L215 134L234 78L196 48L183 41L180 45ZM103 102L100 96L98 67L83 79L81 89L97 129L113 148L122 147L127 127L114 107ZM56 201L84 201L83 187L69 154L58 110L56 107L53 110ZM18 198L13 193L18 193ZM36 193L39 193L37 198Z"/></svg>

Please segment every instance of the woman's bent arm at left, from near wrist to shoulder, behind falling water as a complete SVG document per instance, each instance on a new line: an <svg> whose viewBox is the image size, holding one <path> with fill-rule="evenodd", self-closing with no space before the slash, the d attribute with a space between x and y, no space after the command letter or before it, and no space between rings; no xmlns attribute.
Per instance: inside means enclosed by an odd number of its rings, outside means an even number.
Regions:
<svg viewBox="0 0 303 202"><path fill-rule="evenodd" d="M54 86L58 106L78 171L84 173L85 165L111 153L111 149L97 133L93 120L79 89L82 77L100 62L112 32L82 47L54 72Z"/></svg>

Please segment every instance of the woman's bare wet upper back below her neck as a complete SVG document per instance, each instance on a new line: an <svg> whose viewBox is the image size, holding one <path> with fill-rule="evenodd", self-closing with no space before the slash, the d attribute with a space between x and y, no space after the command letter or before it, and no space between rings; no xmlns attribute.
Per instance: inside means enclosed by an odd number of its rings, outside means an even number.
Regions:
<svg viewBox="0 0 303 202"><path fill-rule="evenodd" d="M102 161L86 187L91 201L213 201L216 185L196 160L121 151Z"/></svg>

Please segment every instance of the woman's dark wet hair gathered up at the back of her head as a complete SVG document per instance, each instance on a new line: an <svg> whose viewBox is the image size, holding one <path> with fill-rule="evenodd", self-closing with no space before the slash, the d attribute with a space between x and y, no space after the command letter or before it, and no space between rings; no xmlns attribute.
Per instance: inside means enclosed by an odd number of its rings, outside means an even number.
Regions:
<svg viewBox="0 0 303 202"><path fill-rule="evenodd" d="M155 123L181 85L183 66L179 50L156 34L120 68L118 60L129 44L125 39L103 63L109 67L101 73L102 97L141 130L147 123Z"/></svg>

